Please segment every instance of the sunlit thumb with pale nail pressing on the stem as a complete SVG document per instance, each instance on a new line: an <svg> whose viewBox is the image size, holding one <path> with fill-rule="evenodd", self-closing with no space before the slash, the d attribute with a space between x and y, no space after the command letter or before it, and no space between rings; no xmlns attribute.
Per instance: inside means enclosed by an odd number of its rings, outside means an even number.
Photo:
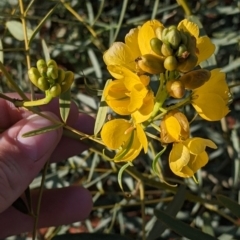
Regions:
<svg viewBox="0 0 240 240"><path fill-rule="evenodd" d="M57 118L50 112L49 117ZM44 166L62 136L62 129L23 138L29 131L52 123L31 115L0 135L0 212L9 207L27 188Z"/></svg>

